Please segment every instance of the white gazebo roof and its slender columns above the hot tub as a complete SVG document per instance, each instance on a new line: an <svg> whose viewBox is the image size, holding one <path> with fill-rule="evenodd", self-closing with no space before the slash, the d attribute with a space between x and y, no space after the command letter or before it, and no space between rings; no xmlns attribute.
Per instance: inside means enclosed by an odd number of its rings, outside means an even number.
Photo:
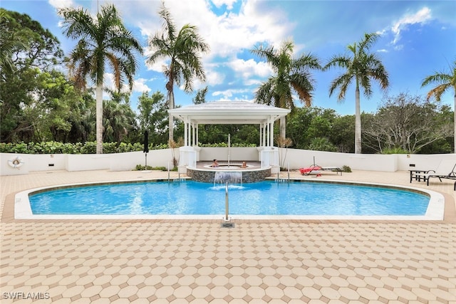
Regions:
<svg viewBox="0 0 456 304"><path fill-rule="evenodd" d="M184 145L197 147L198 125L259 125L260 146L274 146L274 122L290 110L247 101L214 101L168 111L185 125Z"/></svg>

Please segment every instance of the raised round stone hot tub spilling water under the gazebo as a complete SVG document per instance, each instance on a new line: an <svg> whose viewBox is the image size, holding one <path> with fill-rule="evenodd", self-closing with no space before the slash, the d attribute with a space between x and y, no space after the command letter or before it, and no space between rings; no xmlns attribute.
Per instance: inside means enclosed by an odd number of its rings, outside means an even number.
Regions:
<svg viewBox="0 0 456 304"><path fill-rule="evenodd" d="M197 162L196 168L187 167L187 176L196 182L222 184L242 184L261 182L271 176L271 167L261 168L260 162L247 162L242 168L242 162L219 162L219 167L212 167L212 162Z"/></svg>

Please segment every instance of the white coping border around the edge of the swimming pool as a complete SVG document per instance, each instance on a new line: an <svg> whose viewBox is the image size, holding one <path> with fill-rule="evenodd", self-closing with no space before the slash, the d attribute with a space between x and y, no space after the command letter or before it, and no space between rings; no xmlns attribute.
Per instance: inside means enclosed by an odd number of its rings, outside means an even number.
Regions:
<svg viewBox="0 0 456 304"><path fill-rule="evenodd" d="M188 179L188 178L185 178ZM174 182L175 179L172 180ZM292 179L293 182L318 182L318 183L335 183L335 184L353 184L361 186L371 187L388 187L392 189L405 189L413 192L418 192L430 196L429 205L424 216L311 216L311 215L237 215L233 214L229 216L229 221L444 221L445 220L445 199L444 194L435 192L433 190L416 188L416 187L405 187L392 184L372 183L372 182L353 182L353 181L339 181L326 179L322 181L314 181L308 179ZM33 192L42 192L48 189L61 189L65 187L82 187L87 185L103 185L103 184L122 184L122 183L134 183L134 182L169 182L168 179L125 179L123 181L105 181L105 182L84 182L84 183L73 183L73 184L61 184L48 187L38 187L33 189L27 189L14 194L14 211L13 220L201 220L201 221L225 221L224 214L215 215L79 215L79 214L51 214L51 215L39 215L32 214L31 206L28 201L28 194ZM5 201L6 202L6 201ZM6 205L6 204L5 204ZM5 212L5 210L4 210Z"/></svg>

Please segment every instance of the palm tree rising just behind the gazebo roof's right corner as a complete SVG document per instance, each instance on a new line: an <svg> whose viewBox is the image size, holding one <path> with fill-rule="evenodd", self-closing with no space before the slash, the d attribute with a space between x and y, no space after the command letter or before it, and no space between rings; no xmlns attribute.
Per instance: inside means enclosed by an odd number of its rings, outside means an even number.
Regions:
<svg viewBox="0 0 456 304"><path fill-rule="evenodd" d="M301 102L306 106L311 105L315 80L309 69L320 69L321 66L318 58L311 53L293 58L293 49L293 42L284 41L278 50L274 46L259 46L251 51L260 58L265 58L275 73L259 86L255 95L257 103L293 111L293 93L296 93ZM280 137L285 138L285 118L280 120Z"/></svg>

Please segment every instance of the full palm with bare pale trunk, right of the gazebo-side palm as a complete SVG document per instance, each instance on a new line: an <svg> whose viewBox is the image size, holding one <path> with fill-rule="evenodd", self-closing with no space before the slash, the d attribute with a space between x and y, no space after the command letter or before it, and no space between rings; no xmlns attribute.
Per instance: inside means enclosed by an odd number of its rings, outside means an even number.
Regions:
<svg viewBox="0 0 456 304"><path fill-rule="evenodd" d="M372 95L371 80L377 80L381 90L386 90L389 85L388 72L380 58L374 53L369 53L369 48L378 37L377 33L365 33L361 41L348 46L351 55L333 56L324 67L328 69L338 66L346 69L345 73L331 82L329 88L329 96L333 95L334 90L340 88L338 101L345 99L348 86L355 80L355 153L361 153L360 86L366 98L369 98Z"/></svg>

